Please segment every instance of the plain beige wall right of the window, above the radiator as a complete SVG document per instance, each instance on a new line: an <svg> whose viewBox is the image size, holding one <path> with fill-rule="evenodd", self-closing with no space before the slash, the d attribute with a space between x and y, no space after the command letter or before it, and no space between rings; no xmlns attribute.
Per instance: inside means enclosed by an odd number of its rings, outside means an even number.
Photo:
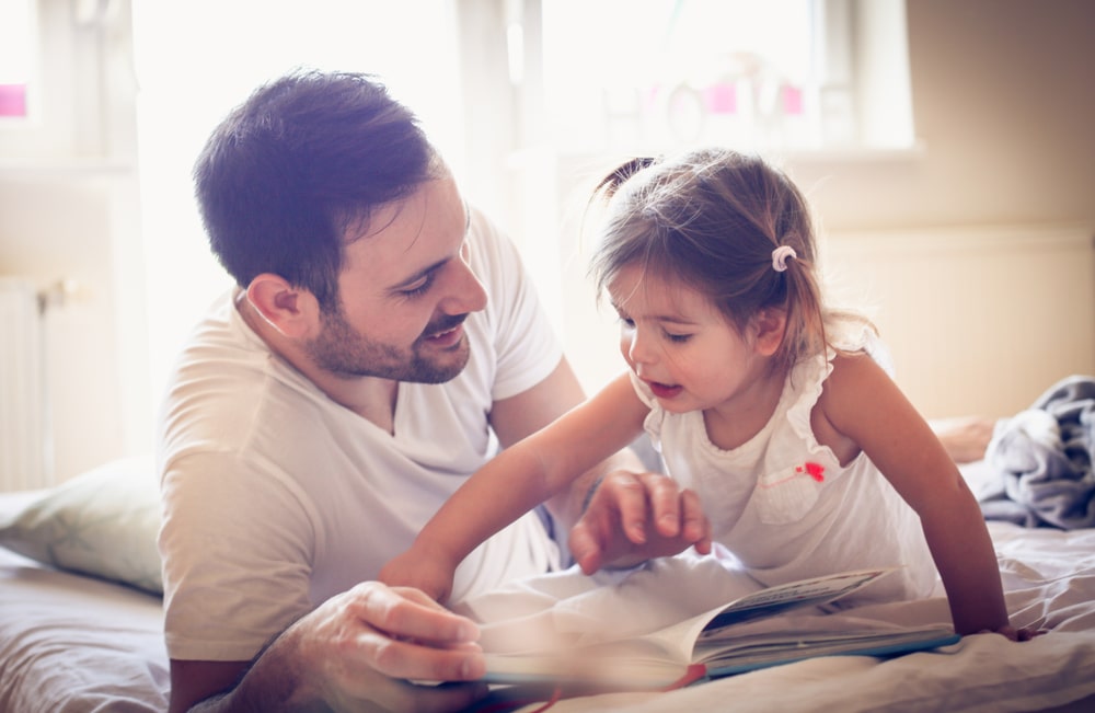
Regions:
<svg viewBox="0 0 1095 713"><path fill-rule="evenodd" d="M1095 221L1095 3L907 8L923 153L794 162L826 227Z"/></svg>

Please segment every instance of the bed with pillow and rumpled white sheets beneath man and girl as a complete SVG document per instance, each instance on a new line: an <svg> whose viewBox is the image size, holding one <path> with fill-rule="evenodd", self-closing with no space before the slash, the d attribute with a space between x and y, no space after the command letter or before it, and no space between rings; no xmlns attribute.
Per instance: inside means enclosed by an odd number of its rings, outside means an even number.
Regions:
<svg viewBox="0 0 1095 713"><path fill-rule="evenodd" d="M975 482L984 463L964 472ZM141 459L50 491L0 495L0 711L166 709L158 511L151 465ZM978 634L887 660L816 658L667 692L564 698L551 708L668 713L733 701L735 711L1095 710L1095 528L989 528L1014 623L1047 630L1034 641ZM942 598L879 606L895 607L898 619L946 620ZM543 708L521 701L527 693L499 690L480 710Z"/></svg>

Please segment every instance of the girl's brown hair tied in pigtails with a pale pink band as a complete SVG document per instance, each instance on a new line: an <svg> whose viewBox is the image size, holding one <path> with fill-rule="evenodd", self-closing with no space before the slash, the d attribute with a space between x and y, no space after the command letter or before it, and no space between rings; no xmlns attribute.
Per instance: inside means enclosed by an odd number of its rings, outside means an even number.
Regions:
<svg viewBox="0 0 1095 713"><path fill-rule="evenodd" d="M812 221L783 172L757 157L699 149L632 160L601 181L597 196L608 198L592 263L599 294L638 264L706 295L739 333L760 310L784 310L777 366L826 348ZM781 245L795 251L783 272L773 265Z"/></svg>

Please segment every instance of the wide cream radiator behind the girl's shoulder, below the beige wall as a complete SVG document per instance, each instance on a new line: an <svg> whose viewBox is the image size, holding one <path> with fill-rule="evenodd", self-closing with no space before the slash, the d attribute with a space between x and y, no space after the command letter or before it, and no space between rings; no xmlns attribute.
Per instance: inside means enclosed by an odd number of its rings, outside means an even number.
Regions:
<svg viewBox="0 0 1095 713"><path fill-rule="evenodd" d="M830 296L867 307L896 380L926 417L1013 415L1095 373L1091 226L833 234Z"/></svg>

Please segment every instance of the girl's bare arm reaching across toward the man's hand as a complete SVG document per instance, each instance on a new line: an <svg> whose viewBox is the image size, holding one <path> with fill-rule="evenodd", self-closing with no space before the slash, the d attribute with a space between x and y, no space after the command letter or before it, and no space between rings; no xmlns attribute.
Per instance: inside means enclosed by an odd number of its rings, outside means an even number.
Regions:
<svg viewBox="0 0 1095 713"><path fill-rule="evenodd" d="M560 493L643 429L647 406L624 373L592 399L503 450L441 506L380 573L389 585L448 597L457 565L484 540Z"/></svg>

